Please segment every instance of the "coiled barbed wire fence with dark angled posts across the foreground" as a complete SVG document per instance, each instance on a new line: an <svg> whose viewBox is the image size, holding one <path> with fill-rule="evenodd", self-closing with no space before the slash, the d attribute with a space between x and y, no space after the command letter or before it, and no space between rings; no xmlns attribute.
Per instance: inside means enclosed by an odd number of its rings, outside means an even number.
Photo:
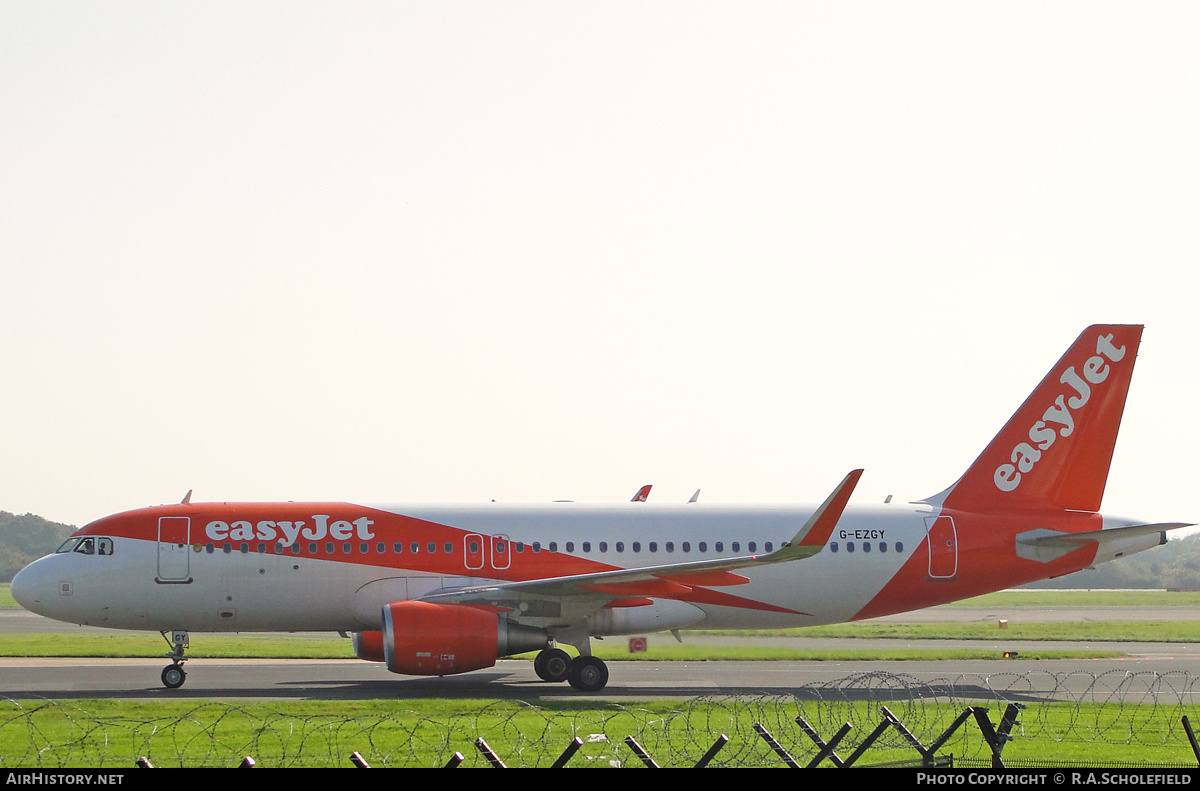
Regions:
<svg viewBox="0 0 1200 791"><path fill-rule="evenodd" d="M668 767L694 766L706 754L708 766L782 766L763 732L799 766L821 757L822 744L830 742L838 742L842 759L868 747L858 766L917 765L922 756L913 742L930 745L941 738L938 754L953 755L956 766L990 766L985 729L970 726L964 714L976 707L985 708L992 724L1006 709L1020 708L1013 743L1040 744L1044 761L1058 754L1072 756L1075 766L1080 756L1094 766L1144 766L1122 759L1136 748L1157 756L1151 765L1195 767L1182 721L1200 712L1200 677L1004 672L923 682L868 672L798 687L790 695L713 695L672 705L496 701L460 705L437 717L410 706L343 701L342 713L330 714L299 703L212 701L162 715L156 713L161 707L137 701L101 713L70 700L0 699L0 767L125 768L143 756L156 767L228 767L245 756L276 767L348 767L352 760L372 767L548 767L572 743L575 753L563 759L570 767L641 766L648 759L637 750ZM902 727L888 725L884 712ZM719 743L721 737L727 741ZM1004 749L1007 759L1013 748Z"/></svg>

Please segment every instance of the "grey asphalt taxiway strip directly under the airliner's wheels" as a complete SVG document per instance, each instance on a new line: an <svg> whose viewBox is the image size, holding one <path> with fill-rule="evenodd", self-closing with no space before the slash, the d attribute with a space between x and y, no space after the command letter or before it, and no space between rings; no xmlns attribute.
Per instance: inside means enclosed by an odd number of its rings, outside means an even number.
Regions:
<svg viewBox="0 0 1200 791"><path fill-rule="evenodd" d="M0 696L68 700L114 697L144 700L408 700L460 697L485 700L580 700L588 696L568 684L538 679L533 664L500 660L496 667L461 676L395 676L382 665L355 660L194 660L187 683L168 690L158 681L157 659L0 659ZM596 700L691 699L701 696L846 695L848 679L865 682L872 697L880 689L928 688L931 694L1006 700L1079 700L1099 685L1111 689L1130 676L1180 675L1200 678L1200 658L1086 661L611 661L608 687ZM1186 673L1186 676L1184 676ZM870 677L865 678L864 677ZM1190 684L1188 684L1190 687ZM1013 690L1016 690L1014 697ZM862 694L868 694L863 691ZM1181 694L1171 685L1172 697ZM1183 690L1186 702L1195 695ZM854 696L853 690L848 693ZM1196 691L1200 695L1200 690Z"/></svg>

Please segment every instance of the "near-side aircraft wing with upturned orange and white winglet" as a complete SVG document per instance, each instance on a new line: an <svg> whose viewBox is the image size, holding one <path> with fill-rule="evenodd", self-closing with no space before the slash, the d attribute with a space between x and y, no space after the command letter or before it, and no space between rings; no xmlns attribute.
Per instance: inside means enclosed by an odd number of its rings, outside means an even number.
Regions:
<svg viewBox="0 0 1200 791"><path fill-rule="evenodd" d="M641 599L650 597L686 599L696 587L720 587L743 585L749 580L738 574L739 569L757 568L774 563L787 563L810 558L822 549L833 534L838 520L850 501L854 486L863 471L851 472L826 498L809 521L804 523L792 540L774 552L767 555L748 555L734 558L713 561L695 561L690 563L672 563L644 567L638 569L613 569L593 574L506 582L503 585L473 586L430 593L421 601L444 604L481 604L487 606L511 609L521 615L538 617L538 611L550 612L556 607L536 607L556 603L565 606L558 610L560 617L569 617L566 611L578 610L582 615L592 612L616 599ZM576 617L582 617L578 615Z"/></svg>

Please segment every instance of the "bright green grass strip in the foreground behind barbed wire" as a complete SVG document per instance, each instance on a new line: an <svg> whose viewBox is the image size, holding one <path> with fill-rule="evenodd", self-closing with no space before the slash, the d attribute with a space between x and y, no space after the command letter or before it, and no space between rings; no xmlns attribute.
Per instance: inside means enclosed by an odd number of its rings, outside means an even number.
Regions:
<svg viewBox="0 0 1200 791"><path fill-rule="evenodd" d="M994 724L1000 720L996 701L979 705L988 707ZM967 703L895 700L887 706L930 744ZM1177 706L1031 702L1003 756L1009 766L1195 767L1180 726L1182 713ZM640 701L636 707L472 700L0 701L0 760L10 768L125 768L146 756L156 767L233 767L248 755L260 767L348 767L356 751L373 767L437 767L458 751L464 766L481 767L486 762L474 742L482 738L508 766L533 767L550 766L580 737L584 744L569 767L641 766L623 743L632 736L661 766L684 767L725 733L730 742L714 766L781 766L754 724L762 723L806 762L815 748L794 725L797 714L824 738L841 723L852 723L839 748L844 757L883 719L877 702L791 699ZM954 754L959 767L988 765L973 720L938 754ZM858 766L914 757L916 751L889 732Z"/></svg>

